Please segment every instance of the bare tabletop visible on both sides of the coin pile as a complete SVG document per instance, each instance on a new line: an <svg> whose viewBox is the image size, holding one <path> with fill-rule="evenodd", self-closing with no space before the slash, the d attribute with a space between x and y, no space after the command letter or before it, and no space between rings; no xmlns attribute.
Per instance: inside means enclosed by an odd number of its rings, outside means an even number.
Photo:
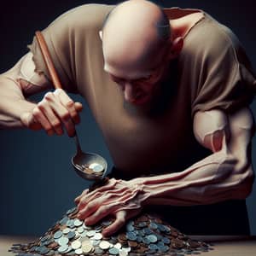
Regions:
<svg viewBox="0 0 256 256"><path fill-rule="evenodd" d="M190 236L192 239L209 241L214 250L201 253L201 256L256 256L256 236ZM37 237L0 236L0 255L14 256L8 252L14 243L34 241ZM193 255L193 254L192 254Z"/></svg>

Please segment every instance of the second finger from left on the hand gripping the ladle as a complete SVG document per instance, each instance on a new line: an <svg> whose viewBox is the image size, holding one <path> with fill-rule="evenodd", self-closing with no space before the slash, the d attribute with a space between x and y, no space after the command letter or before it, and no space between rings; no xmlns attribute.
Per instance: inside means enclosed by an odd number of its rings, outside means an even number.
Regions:
<svg viewBox="0 0 256 256"><path fill-rule="evenodd" d="M38 108L44 113L45 117L49 120L50 125L53 127L54 131L58 135L63 134L63 129L61 127L61 121L58 119L49 107L49 104L46 100L43 100L38 103Z"/></svg>

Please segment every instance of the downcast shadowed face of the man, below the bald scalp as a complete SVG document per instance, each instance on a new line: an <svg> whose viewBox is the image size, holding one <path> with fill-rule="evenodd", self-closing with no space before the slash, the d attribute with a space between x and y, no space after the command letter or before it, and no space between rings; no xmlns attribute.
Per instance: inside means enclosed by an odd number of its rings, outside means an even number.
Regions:
<svg viewBox="0 0 256 256"><path fill-rule="evenodd" d="M152 63L156 58L152 58L148 67L136 67L135 70L131 68L113 68L108 66L105 62L105 71L109 74L110 78L115 82L120 90L123 91L126 102L133 105L143 106L150 104L154 97L158 95L160 90L160 83L165 79L169 66L166 58L158 60L157 64Z"/></svg>

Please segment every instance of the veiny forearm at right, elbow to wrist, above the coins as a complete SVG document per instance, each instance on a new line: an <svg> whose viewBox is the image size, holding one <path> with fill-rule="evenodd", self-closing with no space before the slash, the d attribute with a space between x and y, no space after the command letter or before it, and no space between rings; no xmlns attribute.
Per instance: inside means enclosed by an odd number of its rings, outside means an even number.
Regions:
<svg viewBox="0 0 256 256"><path fill-rule="evenodd" d="M222 151L195 163L183 172L131 181L142 187L145 205L190 206L241 199L251 192L253 170Z"/></svg>

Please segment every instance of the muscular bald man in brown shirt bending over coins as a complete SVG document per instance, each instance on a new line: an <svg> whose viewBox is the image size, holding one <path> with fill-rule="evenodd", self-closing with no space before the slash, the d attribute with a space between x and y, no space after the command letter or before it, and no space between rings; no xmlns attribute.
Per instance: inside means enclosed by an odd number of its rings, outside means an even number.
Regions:
<svg viewBox="0 0 256 256"><path fill-rule="evenodd" d="M111 215L110 236L147 210L187 234L249 233L256 80L230 29L200 9L132 0L79 6L43 34L63 88L84 96L113 157L108 183L75 200L85 224ZM53 88L36 39L29 49L1 75L0 124L72 137L79 102L64 90L26 100Z"/></svg>

